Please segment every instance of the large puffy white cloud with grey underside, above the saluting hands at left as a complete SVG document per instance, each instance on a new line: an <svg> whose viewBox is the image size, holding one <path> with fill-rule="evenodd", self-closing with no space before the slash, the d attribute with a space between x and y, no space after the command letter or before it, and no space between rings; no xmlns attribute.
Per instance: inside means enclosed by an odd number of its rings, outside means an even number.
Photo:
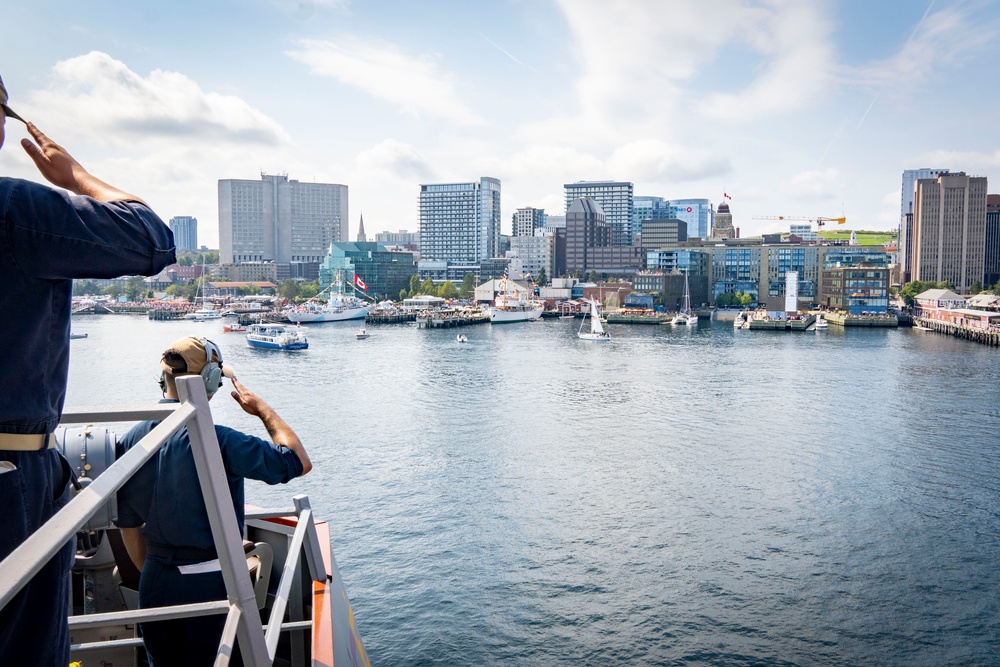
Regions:
<svg viewBox="0 0 1000 667"><path fill-rule="evenodd" d="M177 72L154 70L143 77L92 51L56 63L53 74L49 87L31 95L24 113L71 136L99 136L122 146L164 138L265 146L290 142L277 122L242 99L205 92Z"/></svg>

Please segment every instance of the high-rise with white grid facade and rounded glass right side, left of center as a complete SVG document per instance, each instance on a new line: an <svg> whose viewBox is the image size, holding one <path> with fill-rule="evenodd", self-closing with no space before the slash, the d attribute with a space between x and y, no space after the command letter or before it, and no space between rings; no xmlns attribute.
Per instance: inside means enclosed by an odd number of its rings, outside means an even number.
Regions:
<svg viewBox="0 0 1000 667"><path fill-rule="evenodd" d="M420 186L421 262L479 264L499 246L499 179Z"/></svg>

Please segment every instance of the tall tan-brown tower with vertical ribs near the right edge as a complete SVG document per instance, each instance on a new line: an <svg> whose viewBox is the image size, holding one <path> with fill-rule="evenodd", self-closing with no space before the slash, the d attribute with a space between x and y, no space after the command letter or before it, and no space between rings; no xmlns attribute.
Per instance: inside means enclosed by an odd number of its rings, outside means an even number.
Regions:
<svg viewBox="0 0 1000 667"><path fill-rule="evenodd" d="M913 198L913 280L948 281L960 292L982 283L986 178L965 172L917 179Z"/></svg>

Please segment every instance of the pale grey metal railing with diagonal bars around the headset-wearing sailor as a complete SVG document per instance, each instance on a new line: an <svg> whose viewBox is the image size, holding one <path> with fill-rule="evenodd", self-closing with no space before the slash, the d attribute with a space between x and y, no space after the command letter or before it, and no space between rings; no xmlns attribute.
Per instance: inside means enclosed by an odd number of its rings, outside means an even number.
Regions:
<svg viewBox="0 0 1000 667"><path fill-rule="evenodd" d="M55 516L35 531L7 558L0 562L0 609L31 580L66 542L72 539L87 520L117 493L163 444L185 425L191 440L198 482L205 499L212 536L226 586L227 600L199 604L177 605L122 612L87 614L69 619L71 628L144 623L181 617L226 613L227 619L216 656L216 667L229 664L235 641L240 643L243 661L259 667L274 660L279 633L283 630L308 629L308 622L282 623L289 593L299 559L304 551L309 575L313 581L324 582L328 575L323 563L319 538L313 522L308 497L295 496L294 511L257 512L250 518L297 515L298 522L291 537L278 592L271 609L270 623L265 634L257 609L256 596L250 582L243 552L243 540L236 522L232 497L226 481L225 466L215 435L208 397L200 377L177 378L180 403L158 404L153 407L126 407L88 410L67 410L62 424L91 422L123 422L145 419L162 420L125 455L103 474L86 486ZM68 573L67 573L68 574ZM76 644L73 651L93 651L111 647L138 646L140 639L117 639Z"/></svg>

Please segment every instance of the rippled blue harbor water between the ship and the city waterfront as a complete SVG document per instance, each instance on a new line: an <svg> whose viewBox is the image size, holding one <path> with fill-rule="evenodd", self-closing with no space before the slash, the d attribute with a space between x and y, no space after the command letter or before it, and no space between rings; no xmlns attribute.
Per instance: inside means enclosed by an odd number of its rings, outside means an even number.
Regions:
<svg viewBox="0 0 1000 667"><path fill-rule="evenodd" d="M219 343L315 466L248 500L309 494L380 667L997 664L996 349L578 327L326 324L281 353L79 317L67 405L155 402L169 342Z"/></svg>

